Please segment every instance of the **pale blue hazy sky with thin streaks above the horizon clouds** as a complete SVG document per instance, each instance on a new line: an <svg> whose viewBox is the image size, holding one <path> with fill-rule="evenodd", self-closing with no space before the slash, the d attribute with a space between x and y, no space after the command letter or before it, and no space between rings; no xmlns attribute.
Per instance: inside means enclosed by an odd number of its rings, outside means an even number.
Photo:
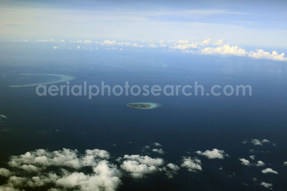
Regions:
<svg viewBox="0 0 287 191"><path fill-rule="evenodd" d="M0 40L224 39L287 48L286 1L0 1Z"/></svg>

